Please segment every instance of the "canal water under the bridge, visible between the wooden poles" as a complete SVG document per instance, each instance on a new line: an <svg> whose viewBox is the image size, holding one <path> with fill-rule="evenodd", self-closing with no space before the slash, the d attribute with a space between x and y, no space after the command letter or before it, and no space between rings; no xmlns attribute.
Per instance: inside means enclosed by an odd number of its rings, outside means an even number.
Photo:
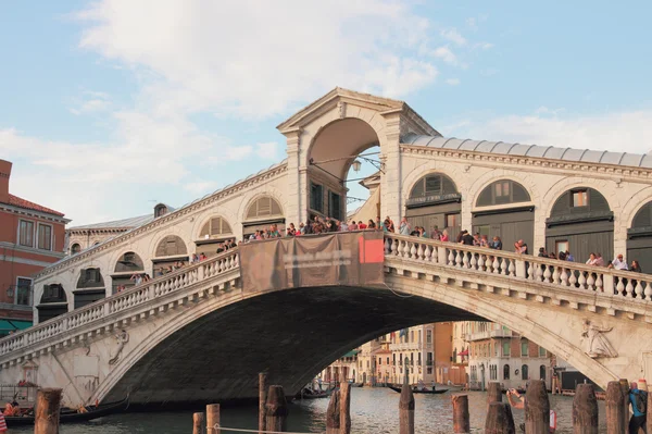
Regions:
<svg viewBox="0 0 652 434"><path fill-rule="evenodd" d="M351 432L394 434L399 432L399 396L389 388L351 389ZM486 394L469 392L472 429L480 430L485 423ZM573 398L550 395L551 408L557 413L557 433L572 433ZM324 433L328 399L294 401L290 404L288 431ZM201 411L198 409L197 411ZM419 434L452 433L452 405L450 394L415 395L415 432ZM599 401L600 432L606 432L604 401ZM523 422L523 410L514 410L516 426ZM222 426L258 427L258 407L222 409ZM34 427L13 429L10 433L33 433ZM517 431L518 432L518 431ZM150 412L115 414L85 424L62 425L61 434L191 434L192 412ZM228 431L223 431L228 434Z"/></svg>

